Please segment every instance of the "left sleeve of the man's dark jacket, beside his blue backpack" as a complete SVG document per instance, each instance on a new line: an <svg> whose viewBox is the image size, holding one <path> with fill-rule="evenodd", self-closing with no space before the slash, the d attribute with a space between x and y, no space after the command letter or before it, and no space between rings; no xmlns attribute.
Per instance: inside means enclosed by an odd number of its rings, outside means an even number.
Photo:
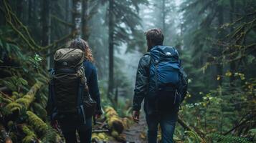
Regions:
<svg viewBox="0 0 256 143"><path fill-rule="evenodd" d="M149 64L149 55L144 55L138 63L136 84L133 95L133 110L135 111L139 111L141 109L141 102L148 93Z"/></svg>

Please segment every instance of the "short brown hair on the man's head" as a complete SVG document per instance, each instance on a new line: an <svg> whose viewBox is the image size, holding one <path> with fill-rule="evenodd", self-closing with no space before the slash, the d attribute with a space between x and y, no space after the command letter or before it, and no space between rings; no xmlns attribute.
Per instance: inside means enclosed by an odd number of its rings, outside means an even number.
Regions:
<svg viewBox="0 0 256 143"><path fill-rule="evenodd" d="M155 28L155 29L149 29L145 32L146 39L150 40L152 44L155 45L163 45L163 33L161 29Z"/></svg>

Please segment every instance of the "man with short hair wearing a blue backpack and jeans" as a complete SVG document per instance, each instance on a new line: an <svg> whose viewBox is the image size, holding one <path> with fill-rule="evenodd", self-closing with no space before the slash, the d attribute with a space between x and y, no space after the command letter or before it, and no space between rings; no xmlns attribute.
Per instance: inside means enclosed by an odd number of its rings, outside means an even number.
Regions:
<svg viewBox="0 0 256 143"><path fill-rule="evenodd" d="M160 124L161 142L172 143L179 106L186 95L187 78L181 68L178 51L172 46L163 46L161 29L150 29L145 34L148 52L138 64L133 120L139 122L144 100L148 142L157 142Z"/></svg>

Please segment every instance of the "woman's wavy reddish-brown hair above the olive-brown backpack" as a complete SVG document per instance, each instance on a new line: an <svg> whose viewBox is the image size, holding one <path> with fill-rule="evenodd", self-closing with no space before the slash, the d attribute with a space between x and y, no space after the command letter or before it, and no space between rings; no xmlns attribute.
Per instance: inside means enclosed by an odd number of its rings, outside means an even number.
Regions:
<svg viewBox="0 0 256 143"><path fill-rule="evenodd" d="M83 39L74 39L70 42L69 48L81 49L85 52L85 59L87 59L90 62L94 62L92 50L90 49L90 46L87 43L87 41Z"/></svg>

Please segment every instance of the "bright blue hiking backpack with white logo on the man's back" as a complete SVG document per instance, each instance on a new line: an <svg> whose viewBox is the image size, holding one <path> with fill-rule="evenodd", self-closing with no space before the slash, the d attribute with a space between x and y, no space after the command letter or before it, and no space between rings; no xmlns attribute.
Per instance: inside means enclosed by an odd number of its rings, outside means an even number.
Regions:
<svg viewBox="0 0 256 143"><path fill-rule="evenodd" d="M171 112L186 96L187 76L179 53L172 46L154 46L151 56L148 103L160 112Z"/></svg>

